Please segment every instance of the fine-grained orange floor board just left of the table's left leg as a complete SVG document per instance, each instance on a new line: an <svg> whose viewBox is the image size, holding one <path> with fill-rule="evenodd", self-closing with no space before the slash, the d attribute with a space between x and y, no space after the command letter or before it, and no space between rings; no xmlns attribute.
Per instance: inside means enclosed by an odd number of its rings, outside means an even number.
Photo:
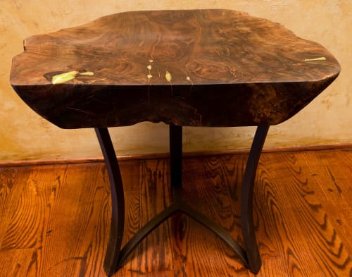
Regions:
<svg viewBox="0 0 352 277"><path fill-rule="evenodd" d="M100 167L103 168L101 165ZM85 169L87 168L83 170ZM88 187L82 195L84 185L94 181L96 174L99 174L99 167L94 166L89 169L86 174L79 174L82 172L82 166L66 166L55 175L52 193L46 205L49 214L44 227L46 235L43 236L42 243L35 248L35 256L30 269L31 276L45 276L46 274L60 276L58 274L63 273L62 276L79 276L77 272L89 259L90 251L95 248L103 251L101 247L106 247L106 239L94 240L98 228L89 226L92 222L92 225L98 226L97 218L103 211L100 199L95 201L92 197L102 190L101 186ZM48 174L45 172L44 176ZM101 173L99 175L101 176ZM106 190L105 195L108 199ZM96 212L92 213L92 209ZM109 220L105 219L103 224ZM89 234L91 236L87 239ZM90 247L90 245L93 246ZM97 269L101 271L101 259L98 261L100 264ZM96 256L90 261L89 266L92 267L95 263Z"/></svg>

